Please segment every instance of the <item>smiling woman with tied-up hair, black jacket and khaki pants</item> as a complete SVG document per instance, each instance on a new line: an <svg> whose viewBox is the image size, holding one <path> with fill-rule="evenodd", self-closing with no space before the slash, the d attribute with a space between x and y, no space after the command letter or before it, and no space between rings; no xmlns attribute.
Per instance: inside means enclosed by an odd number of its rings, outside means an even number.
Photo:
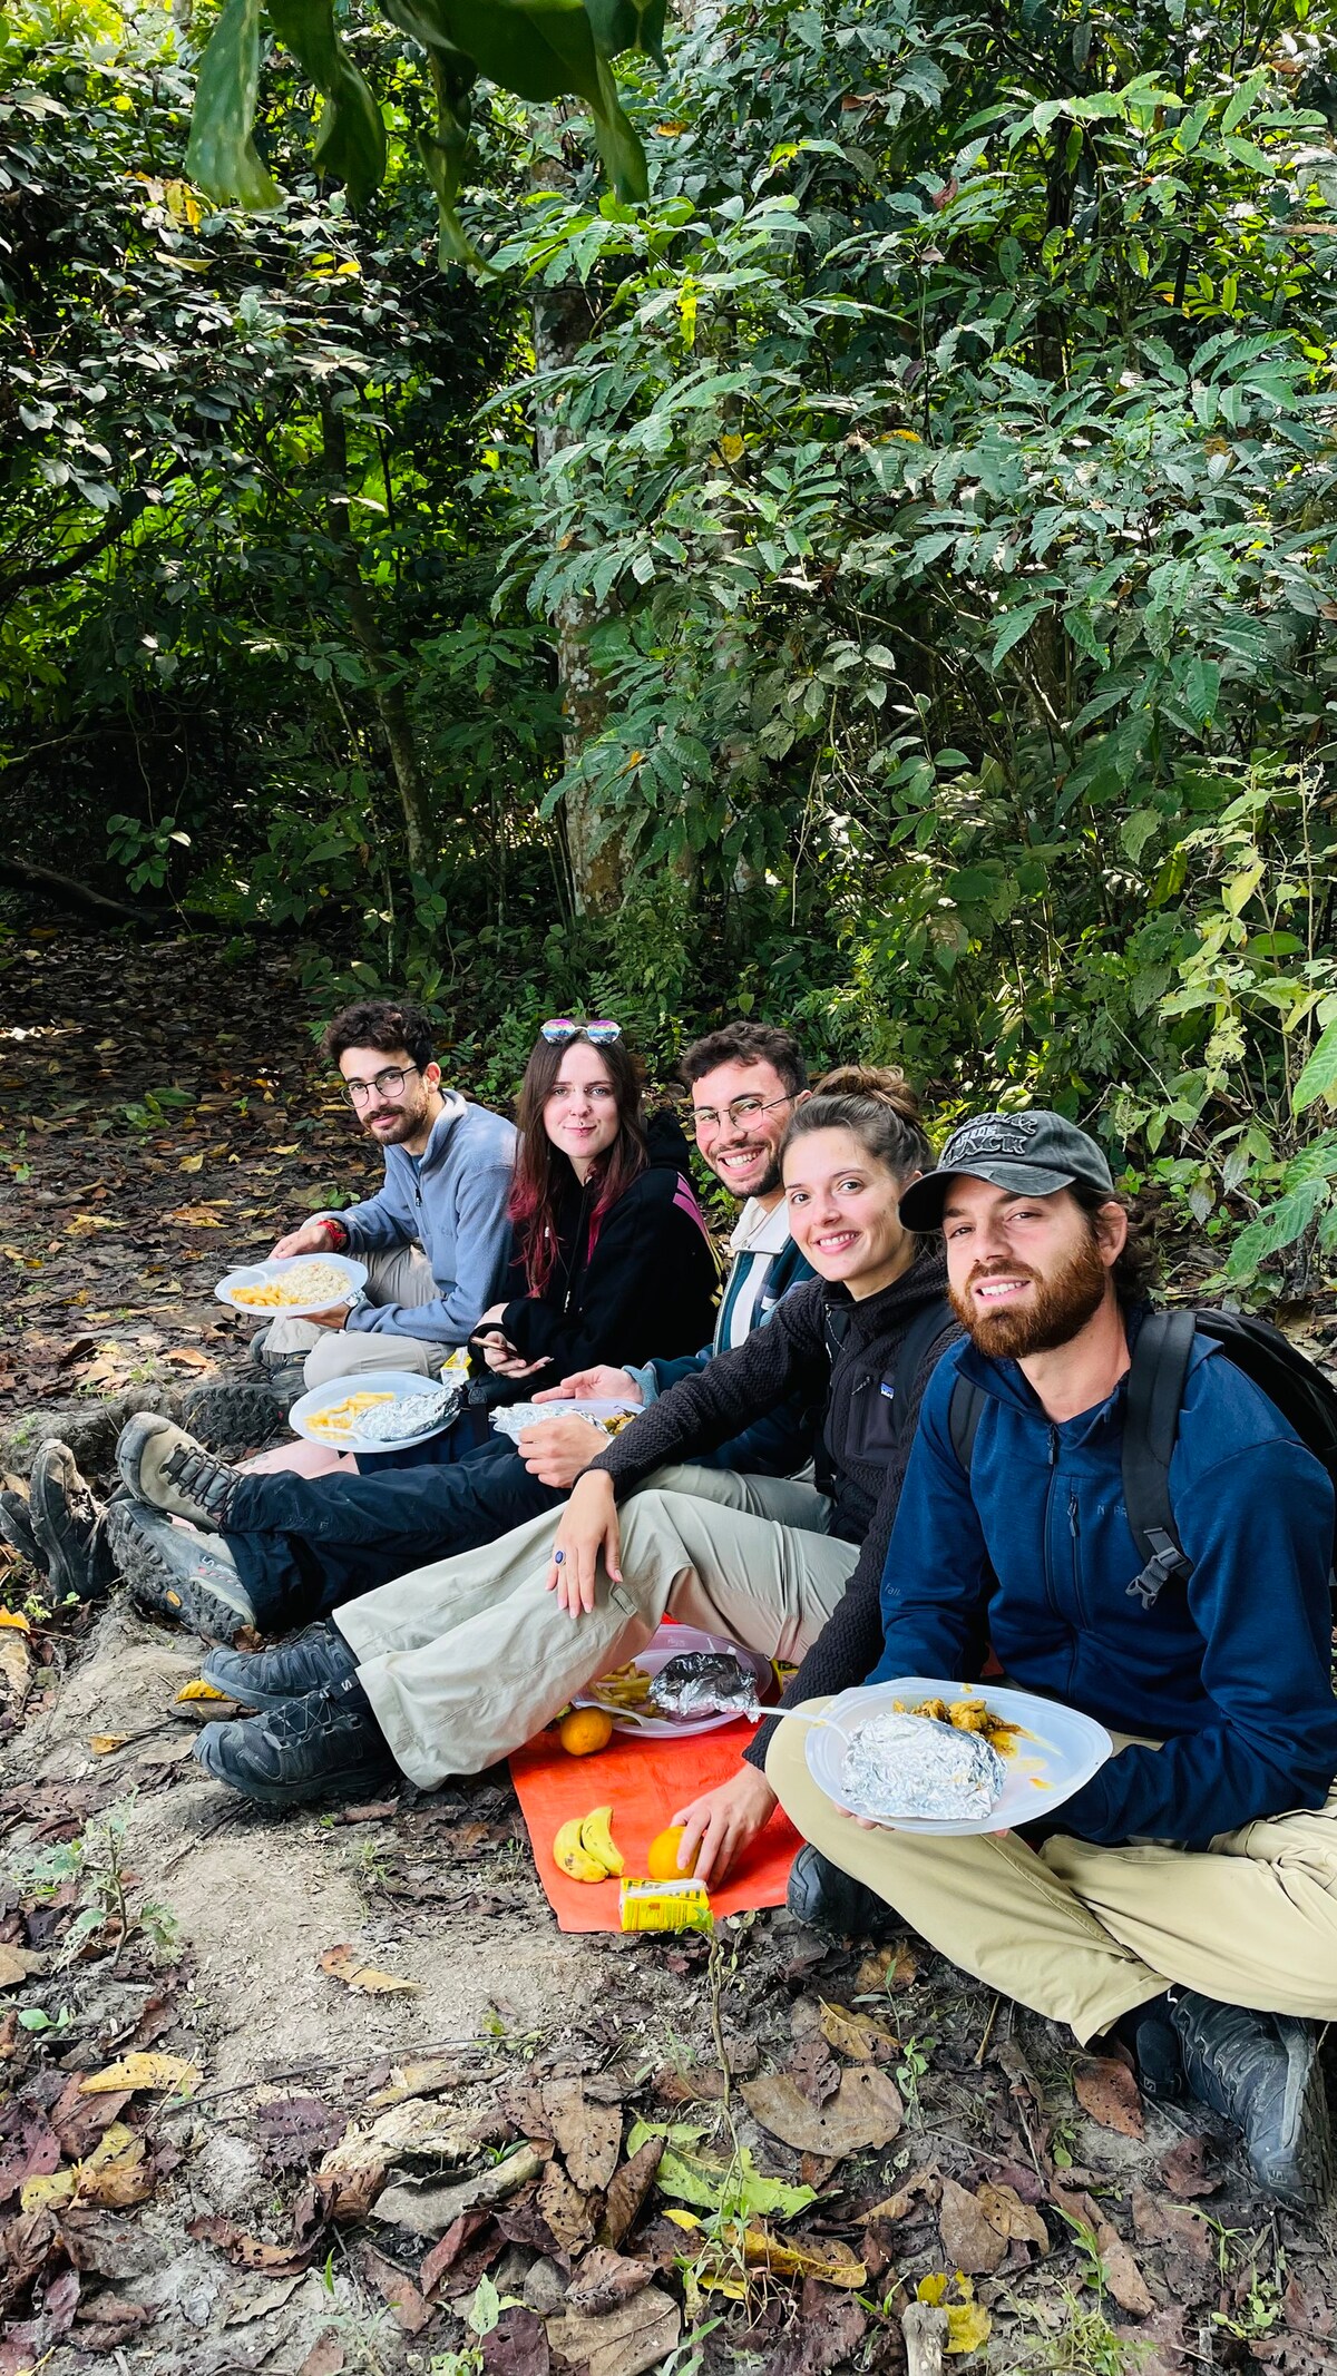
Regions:
<svg viewBox="0 0 1337 2376"><path fill-rule="evenodd" d="M266 1806L363 1792L394 1768L435 1789L527 1742L665 1616L793 1661L786 1704L862 1682L881 1656L881 1571L919 1397L957 1335L943 1255L898 1212L931 1162L902 1074L819 1081L781 1150L788 1226L817 1276L651 1402L556 1518L344 1601L297 1637L290 1673L285 1651L266 1656L259 1701L249 1661L230 1656L230 1689L266 1713L204 1727L209 1772ZM677 1466L788 1397L812 1411L815 1483ZM682 1863L701 1849L701 1879L720 1879L774 1811L767 1734L679 1811Z"/></svg>

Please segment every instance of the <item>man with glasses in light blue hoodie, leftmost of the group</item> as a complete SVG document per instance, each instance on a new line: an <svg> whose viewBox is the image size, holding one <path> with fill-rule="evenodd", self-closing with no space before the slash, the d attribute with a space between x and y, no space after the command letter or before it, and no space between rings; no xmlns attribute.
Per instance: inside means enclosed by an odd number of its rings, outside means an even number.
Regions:
<svg viewBox="0 0 1337 2376"><path fill-rule="evenodd" d="M335 1015L321 1045L366 1138L385 1148L385 1183L347 1212L302 1221L273 1247L368 1264L359 1300L311 1319L275 1314L252 1342L278 1395L366 1369L439 1376L496 1300L511 1252L515 1126L442 1088L423 1010L361 1000ZM211 1399L223 1392L237 1390L216 1388ZM237 1411L242 1433L247 1416L254 1428L254 1414ZM211 1433L223 1418L209 1411Z"/></svg>

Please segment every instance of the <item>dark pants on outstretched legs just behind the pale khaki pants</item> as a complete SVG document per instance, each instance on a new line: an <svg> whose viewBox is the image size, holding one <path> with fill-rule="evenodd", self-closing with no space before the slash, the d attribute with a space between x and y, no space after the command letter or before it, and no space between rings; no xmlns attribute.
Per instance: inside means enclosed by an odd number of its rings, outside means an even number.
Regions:
<svg viewBox="0 0 1337 2376"><path fill-rule="evenodd" d="M489 1435L449 1466L378 1475L247 1475L233 1485L226 1544L256 1625L287 1632L430 1559L496 1542L565 1502L539 1485L506 1437Z"/></svg>

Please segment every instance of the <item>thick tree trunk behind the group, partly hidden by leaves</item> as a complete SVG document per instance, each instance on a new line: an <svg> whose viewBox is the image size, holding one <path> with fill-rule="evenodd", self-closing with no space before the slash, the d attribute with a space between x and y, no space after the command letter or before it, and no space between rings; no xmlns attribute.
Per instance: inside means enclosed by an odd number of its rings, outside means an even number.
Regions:
<svg viewBox="0 0 1337 2376"><path fill-rule="evenodd" d="M532 169L534 188L565 190L556 157L541 157ZM589 337L591 311L582 287L541 290L534 297L534 364L539 371L563 371ZM560 392L534 397L534 456L544 468L568 444ZM558 604L553 632L558 646L558 682L563 696L563 756L575 767L579 753L608 720L608 701L589 661L589 637L598 611L577 596ZM563 803L570 855L572 903L577 915L613 915L625 891L625 839L603 832L606 820L589 786L572 784Z"/></svg>

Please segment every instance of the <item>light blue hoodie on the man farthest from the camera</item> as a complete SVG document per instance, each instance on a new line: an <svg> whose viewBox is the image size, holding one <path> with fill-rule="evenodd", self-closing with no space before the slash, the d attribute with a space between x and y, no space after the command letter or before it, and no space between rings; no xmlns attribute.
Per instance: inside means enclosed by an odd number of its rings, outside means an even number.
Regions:
<svg viewBox="0 0 1337 2376"><path fill-rule="evenodd" d="M354 1304L349 1328L463 1345L482 1312L499 1302L511 1262L513 1121L444 1091L425 1152L385 1150L385 1186L363 1205L332 1214L349 1233L349 1255L375 1255L418 1240L437 1300L430 1304Z"/></svg>

